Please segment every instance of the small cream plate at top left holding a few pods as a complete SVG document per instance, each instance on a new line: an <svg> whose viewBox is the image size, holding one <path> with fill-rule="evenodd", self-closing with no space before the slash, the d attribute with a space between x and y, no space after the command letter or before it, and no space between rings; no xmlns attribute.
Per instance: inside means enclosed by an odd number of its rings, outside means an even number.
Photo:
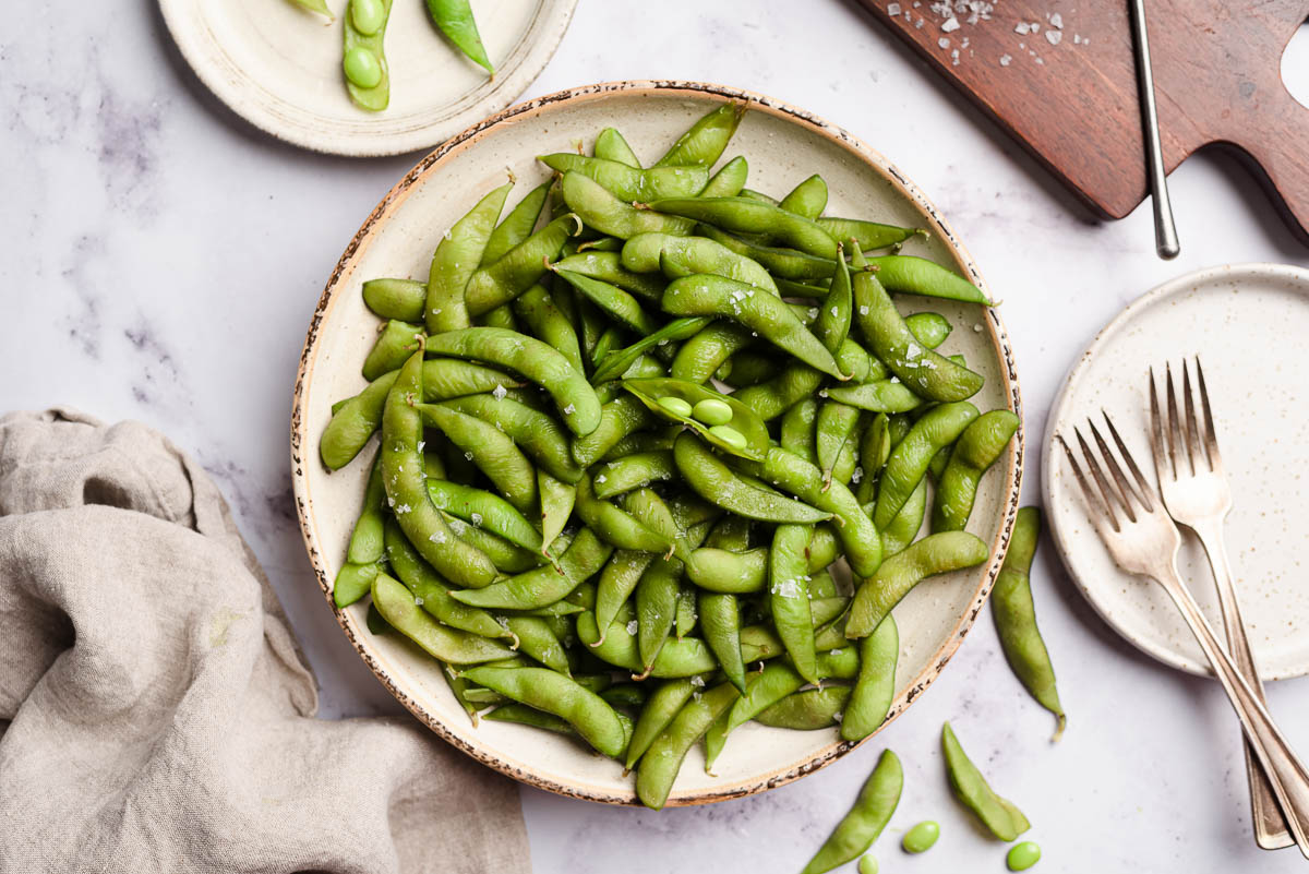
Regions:
<svg viewBox="0 0 1309 874"><path fill-rule="evenodd" d="M340 72L336 20L291 0L160 0L182 56L219 99L315 152L381 156L445 140L508 106L555 54L577 0L473 0L495 77L446 42L423 0L398 0L386 29L390 106L359 109Z"/></svg>

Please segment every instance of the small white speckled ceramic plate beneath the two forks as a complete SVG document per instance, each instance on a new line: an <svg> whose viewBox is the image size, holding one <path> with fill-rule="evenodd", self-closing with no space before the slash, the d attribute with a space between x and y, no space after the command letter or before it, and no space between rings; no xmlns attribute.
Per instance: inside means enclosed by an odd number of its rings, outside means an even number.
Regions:
<svg viewBox="0 0 1309 874"><path fill-rule="evenodd" d="M1192 674L1208 663L1172 601L1109 557L1055 434L1086 434L1103 410L1153 479L1147 372L1200 356L1219 447L1232 485L1227 542L1241 614L1264 679L1309 674L1309 594L1301 585L1309 508L1309 271L1279 264L1213 267L1160 285L1096 336L1050 413L1042 471L1055 544L1077 587L1119 635ZM1179 379L1181 373L1174 376ZM1181 383L1178 382L1178 390ZM1103 430L1103 428L1101 428ZM1086 434L1089 440L1089 434ZM1199 540L1182 529L1182 578L1221 628L1213 577Z"/></svg>

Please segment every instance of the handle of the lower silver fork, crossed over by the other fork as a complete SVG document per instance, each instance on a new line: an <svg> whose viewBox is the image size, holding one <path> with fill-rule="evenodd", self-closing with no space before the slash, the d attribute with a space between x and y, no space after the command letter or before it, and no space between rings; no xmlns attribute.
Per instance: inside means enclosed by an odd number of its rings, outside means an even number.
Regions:
<svg viewBox="0 0 1309 874"><path fill-rule="evenodd" d="M1236 663L1241 676L1250 684L1250 691L1258 696L1259 701L1267 707L1263 696L1263 683L1259 680L1259 671L1254 665L1254 653L1250 650L1250 637L1241 621L1241 606L1236 597L1236 585L1232 581L1232 565L1228 563L1227 546L1223 538L1221 522L1216 525L1192 525L1191 529L1204 546L1204 553L1210 559L1213 569L1213 585L1219 593L1219 607L1223 612L1223 627L1227 632L1228 653ZM1268 776L1259 767L1254 751L1249 744L1245 747L1245 771L1250 780L1250 813L1254 819L1254 840L1263 849L1280 849L1291 847L1295 840L1287 827L1287 820L1278 809L1276 797L1272 793L1272 784Z"/></svg>

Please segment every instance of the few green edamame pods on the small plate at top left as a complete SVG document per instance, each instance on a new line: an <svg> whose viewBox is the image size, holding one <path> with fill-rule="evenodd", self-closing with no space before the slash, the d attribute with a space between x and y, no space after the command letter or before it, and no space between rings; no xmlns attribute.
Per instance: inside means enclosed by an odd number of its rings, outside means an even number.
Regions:
<svg viewBox="0 0 1309 874"><path fill-rule="evenodd" d="M334 18L327 0L291 1L329 20ZM391 75L384 42L393 1L348 0L342 16L340 65L346 75L346 90L355 106L372 113L381 113L391 101ZM469 0L427 0L427 10L432 24L450 44L486 69L488 76L495 75Z"/></svg>

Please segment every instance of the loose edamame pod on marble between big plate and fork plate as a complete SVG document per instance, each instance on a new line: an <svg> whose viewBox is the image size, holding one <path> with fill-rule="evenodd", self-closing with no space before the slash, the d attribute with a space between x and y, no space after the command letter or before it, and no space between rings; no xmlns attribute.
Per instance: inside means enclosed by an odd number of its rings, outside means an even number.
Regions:
<svg viewBox="0 0 1309 874"><path fill-rule="evenodd" d="M1024 688L1058 718L1055 739L1063 734L1067 717L1059 704L1059 691L1055 687L1055 671L1050 663L1050 653L1041 638L1037 627L1037 611L1031 603L1031 584L1028 574L1031 569L1031 556L1037 551L1041 536L1041 510L1024 506L1013 523L1009 538L1009 551L1004 556L1000 576L995 580L991 593L991 618L1000 636L1000 649L1022 682Z"/></svg>

